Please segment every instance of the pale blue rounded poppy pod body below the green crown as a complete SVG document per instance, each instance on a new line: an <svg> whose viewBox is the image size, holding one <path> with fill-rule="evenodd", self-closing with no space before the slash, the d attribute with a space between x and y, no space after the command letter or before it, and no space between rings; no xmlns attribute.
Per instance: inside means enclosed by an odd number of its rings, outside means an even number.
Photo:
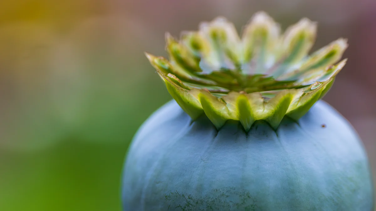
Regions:
<svg viewBox="0 0 376 211"><path fill-rule="evenodd" d="M323 127L325 125L325 127ZM238 122L217 132L171 101L139 129L123 174L124 211L371 211L367 156L326 102L277 131Z"/></svg>

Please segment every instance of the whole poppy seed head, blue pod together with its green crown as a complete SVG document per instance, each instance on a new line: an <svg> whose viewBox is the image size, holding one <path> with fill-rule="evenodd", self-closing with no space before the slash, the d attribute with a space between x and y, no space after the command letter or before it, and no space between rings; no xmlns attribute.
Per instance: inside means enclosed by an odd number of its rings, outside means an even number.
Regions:
<svg viewBox="0 0 376 211"><path fill-rule="evenodd" d="M199 28L166 35L169 59L146 53L174 100L132 141L123 210L372 211L361 140L320 101L346 39L308 54L314 22L281 34L264 12L241 37L222 17Z"/></svg>

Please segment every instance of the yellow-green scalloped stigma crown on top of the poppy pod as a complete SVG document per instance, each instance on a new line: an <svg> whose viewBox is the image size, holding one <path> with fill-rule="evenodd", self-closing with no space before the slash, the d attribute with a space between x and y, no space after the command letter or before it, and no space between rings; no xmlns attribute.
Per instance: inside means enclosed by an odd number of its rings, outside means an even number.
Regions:
<svg viewBox="0 0 376 211"><path fill-rule="evenodd" d="M308 56L317 27L307 18L283 35L265 12L253 16L241 38L222 17L199 28L180 41L166 34L170 60L146 56L180 107L192 119L205 113L218 129L229 119L246 131L257 120L273 128L285 115L298 120L346 63L337 63L347 48L343 38Z"/></svg>

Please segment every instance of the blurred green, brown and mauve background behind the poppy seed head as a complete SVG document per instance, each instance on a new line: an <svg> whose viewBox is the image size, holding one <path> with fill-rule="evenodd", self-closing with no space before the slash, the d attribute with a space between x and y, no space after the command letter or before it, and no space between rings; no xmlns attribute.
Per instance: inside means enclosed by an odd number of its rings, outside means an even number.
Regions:
<svg viewBox="0 0 376 211"><path fill-rule="evenodd" d="M361 136L376 176L374 0L0 1L0 210L120 211L127 147L167 102L143 52L218 15L318 21L314 50L349 39L325 100Z"/></svg>

